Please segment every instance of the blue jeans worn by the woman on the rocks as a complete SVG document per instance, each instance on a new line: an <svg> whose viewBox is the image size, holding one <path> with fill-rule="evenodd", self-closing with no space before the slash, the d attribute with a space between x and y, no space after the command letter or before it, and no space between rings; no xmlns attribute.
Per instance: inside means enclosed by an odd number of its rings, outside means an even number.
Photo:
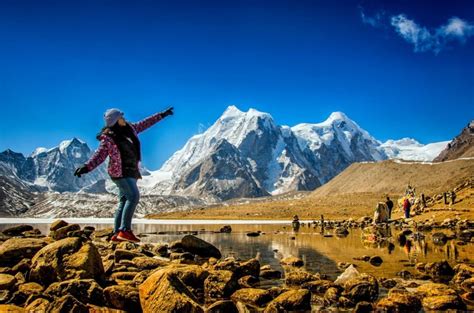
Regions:
<svg viewBox="0 0 474 313"><path fill-rule="evenodd" d="M125 177L114 179L113 182L119 188L119 204L115 211L114 232L132 229L132 217L140 200L140 192L137 187L137 179Z"/></svg>

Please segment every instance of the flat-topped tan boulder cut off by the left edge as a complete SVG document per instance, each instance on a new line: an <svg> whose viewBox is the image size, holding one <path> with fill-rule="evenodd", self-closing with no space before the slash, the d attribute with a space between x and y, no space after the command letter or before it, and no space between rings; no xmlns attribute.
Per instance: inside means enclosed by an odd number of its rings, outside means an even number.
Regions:
<svg viewBox="0 0 474 313"><path fill-rule="evenodd" d="M43 238L11 238L0 245L0 266L11 266L23 258L31 259L48 244Z"/></svg>

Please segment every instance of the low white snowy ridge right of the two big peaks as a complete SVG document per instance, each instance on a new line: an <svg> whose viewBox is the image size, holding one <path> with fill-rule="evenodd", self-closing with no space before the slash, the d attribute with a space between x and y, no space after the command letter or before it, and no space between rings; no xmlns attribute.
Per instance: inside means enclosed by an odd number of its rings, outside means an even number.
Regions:
<svg viewBox="0 0 474 313"><path fill-rule="evenodd" d="M380 145L380 149L389 159L405 161L432 161L446 148L449 141L441 141L423 145L411 138L387 140Z"/></svg>

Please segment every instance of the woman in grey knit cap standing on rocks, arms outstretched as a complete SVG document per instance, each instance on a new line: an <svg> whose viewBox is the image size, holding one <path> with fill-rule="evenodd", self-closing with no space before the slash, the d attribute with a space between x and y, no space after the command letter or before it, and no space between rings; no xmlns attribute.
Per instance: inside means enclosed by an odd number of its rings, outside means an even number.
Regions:
<svg viewBox="0 0 474 313"><path fill-rule="evenodd" d="M173 115L173 108L156 113L140 122L129 123L124 119L122 111L107 110L104 114L105 126L97 135L100 141L99 148L84 166L74 172L75 176L81 177L109 157L108 172L119 190L119 204L115 212L114 235L111 241L140 241L132 232L132 217L140 198L137 187L137 179L141 178L138 134L168 115Z"/></svg>

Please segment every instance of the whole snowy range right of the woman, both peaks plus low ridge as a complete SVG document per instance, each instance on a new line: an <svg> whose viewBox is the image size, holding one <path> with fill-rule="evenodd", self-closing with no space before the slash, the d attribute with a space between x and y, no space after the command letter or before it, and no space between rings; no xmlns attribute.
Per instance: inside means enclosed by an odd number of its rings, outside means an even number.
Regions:
<svg viewBox="0 0 474 313"><path fill-rule="evenodd" d="M226 153L218 148L223 142ZM431 161L445 144L422 145L411 139L382 144L342 112L321 123L288 127L277 125L268 113L230 106L141 184L149 194L220 200L275 195L312 190L354 162ZM243 177L248 188L241 188Z"/></svg>

